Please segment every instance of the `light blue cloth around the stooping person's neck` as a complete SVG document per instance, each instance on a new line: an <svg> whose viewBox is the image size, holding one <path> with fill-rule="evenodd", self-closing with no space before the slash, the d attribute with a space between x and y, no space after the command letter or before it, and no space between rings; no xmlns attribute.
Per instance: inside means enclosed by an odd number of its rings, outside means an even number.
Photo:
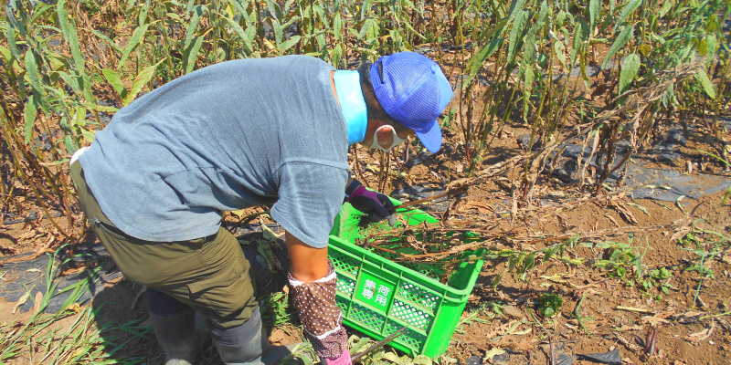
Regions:
<svg viewBox="0 0 731 365"><path fill-rule="evenodd" d="M348 145L362 142L365 139L368 117L358 71L335 71L333 80L340 109L343 110L345 122L348 124Z"/></svg>

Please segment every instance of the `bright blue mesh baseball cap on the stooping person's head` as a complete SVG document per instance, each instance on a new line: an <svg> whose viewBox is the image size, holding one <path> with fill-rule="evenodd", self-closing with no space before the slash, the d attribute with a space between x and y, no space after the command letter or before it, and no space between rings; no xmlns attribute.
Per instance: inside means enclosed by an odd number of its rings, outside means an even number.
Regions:
<svg viewBox="0 0 731 365"><path fill-rule="evenodd" d="M432 153L440 151L441 111L450 103L450 82L436 62L414 52L378 58L370 69L376 99L389 117L414 130Z"/></svg>

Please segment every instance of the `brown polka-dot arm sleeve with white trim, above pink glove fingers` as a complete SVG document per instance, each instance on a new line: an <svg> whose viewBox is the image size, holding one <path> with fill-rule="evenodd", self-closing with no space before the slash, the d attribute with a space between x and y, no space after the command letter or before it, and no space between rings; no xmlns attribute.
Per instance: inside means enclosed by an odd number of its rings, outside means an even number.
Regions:
<svg viewBox="0 0 731 365"><path fill-rule="evenodd" d="M304 283L288 273L294 307L300 314L304 335L321 359L338 359L347 350L348 336L343 315L335 304L337 276L328 260L328 274L312 283Z"/></svg>

